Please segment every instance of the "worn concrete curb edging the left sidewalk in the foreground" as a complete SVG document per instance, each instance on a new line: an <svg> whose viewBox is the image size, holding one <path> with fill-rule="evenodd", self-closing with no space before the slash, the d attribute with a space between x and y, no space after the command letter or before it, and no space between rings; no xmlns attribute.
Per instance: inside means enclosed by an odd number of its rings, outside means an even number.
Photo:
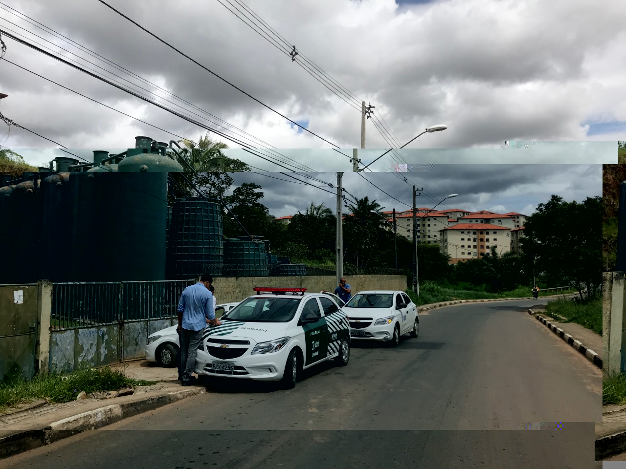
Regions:
<svg viewBox="0 0 626 469"><path fill-rule="evenodd" d="M85 430L95 430L116 421L168 405L186 397L205 392L205 388L190 388L167 394L150 396L141 400L106 405L62 420L54 421L44 428L17 431L0 438L0 460L24 451L49 445Z"/></svg>

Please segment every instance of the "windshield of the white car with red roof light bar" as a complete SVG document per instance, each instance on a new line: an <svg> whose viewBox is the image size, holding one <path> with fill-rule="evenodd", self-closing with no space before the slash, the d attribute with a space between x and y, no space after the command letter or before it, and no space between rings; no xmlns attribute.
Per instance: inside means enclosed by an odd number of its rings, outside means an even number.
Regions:
<svg viewBox="0 0 626 469"><path fill-rule="evenodd" d="M258 323L287 323L295 316L299 298L248 298L228 311L228 321L250 321Z"/></svg>

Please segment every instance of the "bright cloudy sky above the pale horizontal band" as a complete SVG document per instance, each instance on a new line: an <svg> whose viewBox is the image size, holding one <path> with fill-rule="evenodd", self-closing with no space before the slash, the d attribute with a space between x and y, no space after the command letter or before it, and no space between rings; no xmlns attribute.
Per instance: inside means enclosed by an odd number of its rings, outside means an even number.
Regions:
<svg viewBox="0 0 626 469"><path fill-rule="evenodd" d="M424 134L408 148L499 149L505 140L615 141L625 134L623 2L598 8L589 0L245 0L255 24L264 21L280 35L270 38L242 21L246 10L237 1L110 4L284 117L97 0L0 4L6 44L0 92L9 95L0 112L68 148L128 148L138 135L197 140L204 127L235 139L211 134L231 148L354 148L361 146L361 101L375 106L367 148L399 147L434 124L448 129ZM6 126L0 145L58 146Z"/></svg>

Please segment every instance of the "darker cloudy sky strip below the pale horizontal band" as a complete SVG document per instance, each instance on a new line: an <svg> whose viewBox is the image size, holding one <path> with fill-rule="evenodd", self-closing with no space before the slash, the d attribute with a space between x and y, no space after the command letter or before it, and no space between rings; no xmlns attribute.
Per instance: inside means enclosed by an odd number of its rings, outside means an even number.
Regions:
<svg viewBox="0 0 626 469"><path fill-rule="evenodd" d="M301 173L285 171L285 174L317 187L299 183L282 173L231 174L235 179L232 189L246 182L260 184L264 193L262 203L276 217L298 211L304 213L312 202L324 203L336 210L336 189L324 184L331 183L336 187L336 173L304 173L310 176L307 178ZM411 208L413 184L424 189L416 198L418 207L431 209L449 194L456 193L458 196L447 199L436 209L516 211L530 215L537 204L547 202L552 194L578 202L587 197L602 196L602 165L546 164L538 171L536 166L521 164L435 164L419 173L344 173L342 178L342 186L352 196L376 199L385 210ZM350 196L347 198L351 200Z"/></svg>

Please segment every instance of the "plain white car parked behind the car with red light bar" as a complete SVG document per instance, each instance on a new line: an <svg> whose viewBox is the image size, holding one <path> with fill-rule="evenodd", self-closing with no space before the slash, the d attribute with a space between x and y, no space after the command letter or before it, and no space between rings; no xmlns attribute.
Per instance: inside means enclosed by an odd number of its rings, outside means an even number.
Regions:
<svg viewBox="0 0 626 469"><path fill-rule="evenodd" d="M400 343L400 336L417 337L417 306L403 291L359 291L346 303L352 339L382 340L389 345Z"/></svg>

